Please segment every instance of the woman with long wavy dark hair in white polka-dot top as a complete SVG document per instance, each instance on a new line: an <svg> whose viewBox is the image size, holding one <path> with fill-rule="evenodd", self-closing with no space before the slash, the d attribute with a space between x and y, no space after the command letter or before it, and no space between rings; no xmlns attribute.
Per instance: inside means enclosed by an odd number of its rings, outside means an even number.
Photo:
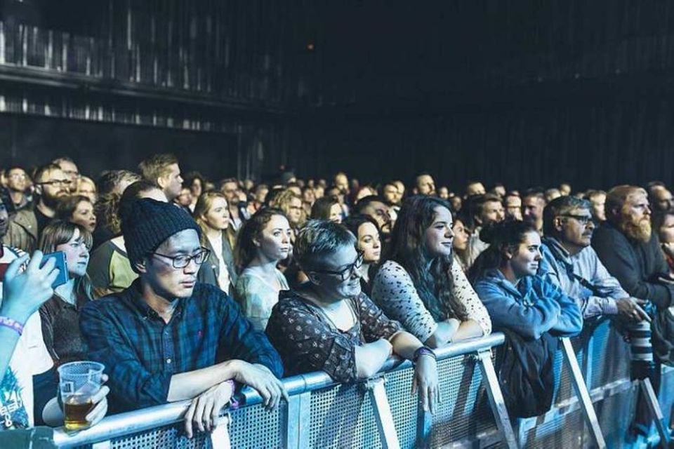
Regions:
<svg viewBox="0 0 674 449"><path fill-rule="evenodd" d="M447 201L418 195L404 201L372 298L430 347L491 333L491 320L452 256Z"/></svg>

